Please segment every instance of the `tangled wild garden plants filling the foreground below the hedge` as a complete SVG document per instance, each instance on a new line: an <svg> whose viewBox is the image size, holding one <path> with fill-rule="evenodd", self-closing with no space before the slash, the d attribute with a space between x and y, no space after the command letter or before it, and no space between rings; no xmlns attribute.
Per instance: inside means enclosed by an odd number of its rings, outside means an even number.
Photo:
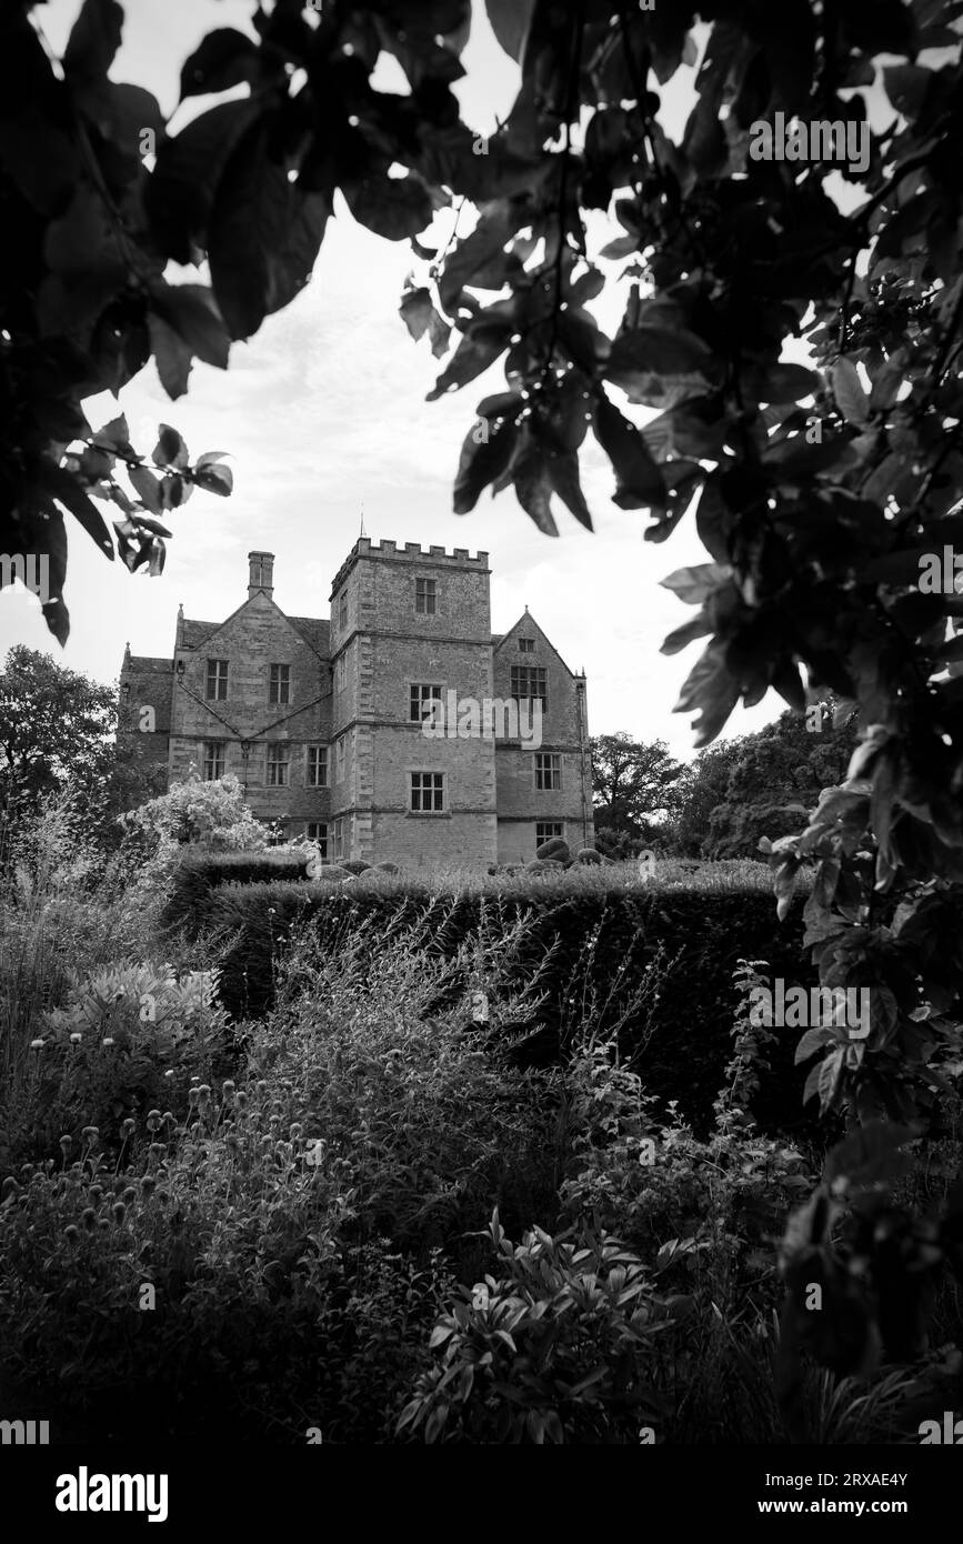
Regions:
<svg viewBox="0 0 963 1544"><path fill-rule="evenodd" d="M762 962L732 984L696 1132L620 1050L630 1021L642 1053L657 1036L665 951L600 982L588 937L560 1055L529 1065L545 979L497 905L449 950L403 916L349 919L338 950L295 923L273 1007L238 1022L215 991L230 940L162 928L150 863L105 865L60 812L5 874L0 1391L54 1441L779 1437L778 1243L823 1155L755 1121ZM934 1212L958 1101L911 1150ZM929 1314L912 1363L806 1366L813 1441L917 1441L957 1373L948 1285Z"/></svg>

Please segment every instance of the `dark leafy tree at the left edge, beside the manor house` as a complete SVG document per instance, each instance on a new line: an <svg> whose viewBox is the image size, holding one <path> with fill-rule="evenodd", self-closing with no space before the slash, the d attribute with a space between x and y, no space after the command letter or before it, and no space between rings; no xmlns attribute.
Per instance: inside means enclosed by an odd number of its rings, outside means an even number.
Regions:
<svg viewBox="0 0 963 1544"><path fill-rule="evenodd" d="M114 689L17 644L0 672L0 812L37 809L71 789L100 797L111 777Z"/></svg>

